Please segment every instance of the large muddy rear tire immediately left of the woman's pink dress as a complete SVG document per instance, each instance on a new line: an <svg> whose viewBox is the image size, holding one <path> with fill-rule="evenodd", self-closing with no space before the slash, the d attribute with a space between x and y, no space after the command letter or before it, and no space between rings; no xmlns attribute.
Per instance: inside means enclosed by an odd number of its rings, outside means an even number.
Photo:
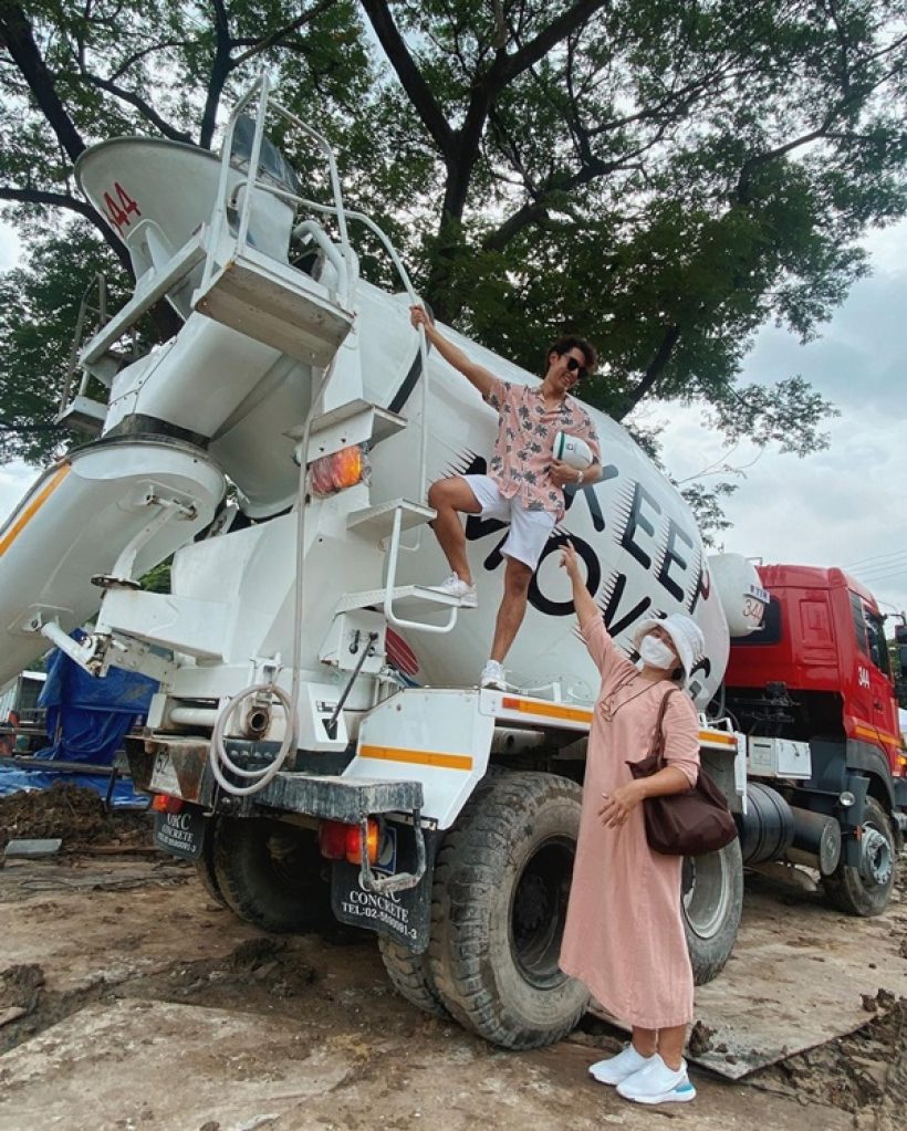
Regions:
<svg viewBox="0 0 907 1131"><path fill-rule="evenodd" d="M567 778L495 776L435 861L429 961L438 995L465 1028L506 1048L560 1041L588 1002L558 965L580 800Z"/></svg>

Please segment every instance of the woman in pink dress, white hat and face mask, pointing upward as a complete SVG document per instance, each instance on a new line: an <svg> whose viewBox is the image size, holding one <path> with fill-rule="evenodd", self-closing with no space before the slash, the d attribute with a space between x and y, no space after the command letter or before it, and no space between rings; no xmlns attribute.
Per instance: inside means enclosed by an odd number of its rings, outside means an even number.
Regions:
<svg viewBox="0 0 907 1131"><path fill-rule="evenodd" d="M589 1069L625 1099L660 1104L693 1099L683 1046L693 1019L693 974L681 918L682 857L653 852L645 797L682 793L699 772L699 722L684 691L705 640L689 616L643 621L633 644L641 667L608 636L586 589L573 547L561 555L589 655L602 675L586 758L577 857L561 969L579 978L605 1009L632 1027L630 1044ZM634 779L628 761L649 753L658 708L665 760Z"/></svg>

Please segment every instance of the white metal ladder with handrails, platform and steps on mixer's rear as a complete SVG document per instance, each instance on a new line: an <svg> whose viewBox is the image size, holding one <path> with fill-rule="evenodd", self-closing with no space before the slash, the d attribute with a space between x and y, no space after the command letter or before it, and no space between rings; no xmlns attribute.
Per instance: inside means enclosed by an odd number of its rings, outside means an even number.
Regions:
<svg viewBox="0 0 907 1131"><path fill-rule="evenodd" d="M223 245L227 234L230 195L227 176L233 137L243 111L256 95L258 95L258 107L247 183L241 191L233 190L234 199L241 196L235 243L228 257L217 256L216 249ZM321 149L330 173L332 205L318 204L282 190L258 175L269 107L301 130ZM383 245L399 274L411 303L418 302L418 297L388 236L369 216L345 208L329 143L290 111L270 100L268 81L262 77L234 107L224 137L223 155L209 254L195 299L195 308L284 353L323 368L325 377L317 391L313 391L304 424L291 432L291 435L299 440L301 464L303 466L310 464L313 459L338 451L340 447L360 442L374 446L399 430L411 426L404 416L368 400L363 395L361 354L355 344L354 325L357 266L348 238L349 221L364 225ZM313 292L314 280L293 267L276 264L249 245L250 210L257 189L265 189L303 207L306 211L330 216L336 221L339 243L334 243L325 230L311 219L302 222L294 228L297 238L306 238L332 264L338 278L336 294L319 295ZM314 286L318 284L314 283ZM416 498L372 502L369 507L347 516L347 528L351 532L385 547L385 576L380 587L345 594L337 603L335 615L360 608L380 608L387 623L395 628L446 633L456 625L459 601L424 586L396 584L400 553L408 549L417 549L403 544L404 534L424 527L434 518L434 511L425 504L429 373L424 330L420 328L418 334L421 434L417 491L414 492ZM304 571L304 562L300 561L299 564ZM441 624L417 618L421 612L432 613L439 608L448 611L448 618Z"/></svg>

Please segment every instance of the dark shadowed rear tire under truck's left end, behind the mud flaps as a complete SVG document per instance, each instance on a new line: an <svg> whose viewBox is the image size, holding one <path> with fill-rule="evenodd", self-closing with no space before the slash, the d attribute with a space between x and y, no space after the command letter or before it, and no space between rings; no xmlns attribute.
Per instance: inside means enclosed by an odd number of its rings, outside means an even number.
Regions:
<svg viewBox="0 0 907 1131"><path fill-rule="evenodd" d="M330 887L311 829L268 818L222 817L214 874L226 905L271 933L305 933L330 916Z"/></svg>

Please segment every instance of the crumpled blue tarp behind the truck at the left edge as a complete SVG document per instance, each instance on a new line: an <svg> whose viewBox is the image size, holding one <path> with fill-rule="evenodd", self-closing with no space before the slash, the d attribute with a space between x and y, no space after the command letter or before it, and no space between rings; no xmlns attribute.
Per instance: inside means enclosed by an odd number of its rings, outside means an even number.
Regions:
<svg viewBox="0 0 907 1131"><path fill-rule="evenodd" d="M74 639L84 633L76 630ZM34 757L52 762L89 762L112 766L122 741L144 716L157 690L157 681L135 672L111 667L103 679L89 675L62 651L53 653L47 680L38 698L38 707L47 709L47 734L51 745ZM86 786L106 796L110 778L100 775L54 772L47 770L0 769L0 796L17 789L46 789L63 779ZM132 791L129 782L118 782L111 804L123 808L146 808L148 797Z"/></svg>

